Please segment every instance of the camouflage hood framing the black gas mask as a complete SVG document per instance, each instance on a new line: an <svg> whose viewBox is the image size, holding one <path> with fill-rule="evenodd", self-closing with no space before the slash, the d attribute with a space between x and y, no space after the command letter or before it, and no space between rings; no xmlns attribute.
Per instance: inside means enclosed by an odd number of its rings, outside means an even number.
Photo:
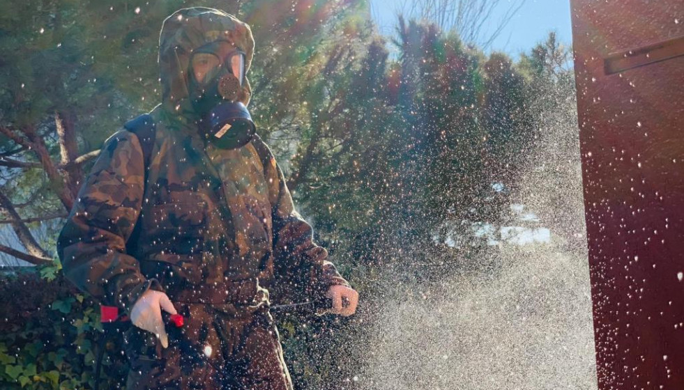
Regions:
<svg viewBox="0 0 684 390"><path fill-rule="evenodd" d="M218 40L230 42L245 52L245 75L254 56L254 38L248 24L222 10L192 7L177 10L164 20L159 36L159 66L162 105L185 119L196 116L189 100L188 66L192 52ZM252 88L245 77L239 101L250 102Z"/></svg>

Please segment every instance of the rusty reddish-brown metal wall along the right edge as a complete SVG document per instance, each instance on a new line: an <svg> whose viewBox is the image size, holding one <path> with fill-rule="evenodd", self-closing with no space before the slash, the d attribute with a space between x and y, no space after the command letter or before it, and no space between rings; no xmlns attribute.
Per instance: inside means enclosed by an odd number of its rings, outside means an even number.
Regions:
<svg viewBox="0 0 684 390"><path fill-rule="evenodd" d="M684 1L570 3L599 388L684 389Z"/></svg>

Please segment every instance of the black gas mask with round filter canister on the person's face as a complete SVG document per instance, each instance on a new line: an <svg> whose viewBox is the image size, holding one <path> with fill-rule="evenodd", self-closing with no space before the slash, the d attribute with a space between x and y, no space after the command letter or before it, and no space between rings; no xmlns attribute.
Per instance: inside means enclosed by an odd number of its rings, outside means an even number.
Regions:
<svg viewBox="0 0 684 390"><path fill-rule="evenodd" d="M237 101L245 83L245 53L227 47L227 42L212 42L192 54L190 102L206 141L234 149L249 143L257 127L245 104Z"/></svg>

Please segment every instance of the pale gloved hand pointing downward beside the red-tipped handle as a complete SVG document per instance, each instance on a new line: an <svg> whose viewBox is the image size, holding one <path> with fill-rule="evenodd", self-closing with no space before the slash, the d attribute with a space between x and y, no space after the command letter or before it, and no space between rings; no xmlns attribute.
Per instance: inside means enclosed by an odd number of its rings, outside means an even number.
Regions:
<svg viewBox="0 0 684 390"><path fill-rule="evenodd" d="M157 290L145 291L133 305L130 311L130 322L133 325L151 331L162 342L162 347L169 346L169 336L166 334L162 311L177 314L174 304L164 292Z"/></svg>

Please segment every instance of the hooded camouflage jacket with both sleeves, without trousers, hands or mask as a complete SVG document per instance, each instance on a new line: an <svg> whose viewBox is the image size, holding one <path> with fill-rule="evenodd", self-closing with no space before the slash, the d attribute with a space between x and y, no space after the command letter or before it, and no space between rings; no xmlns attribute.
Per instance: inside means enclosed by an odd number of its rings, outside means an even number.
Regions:
<svg viewBox="0 0 684 390"><path fill-rule="evenodd" d="M139 139L123 128L116 131L59 235L66 277L102 304L129 313L148 288L173 300L181 290L254 278L275 299L348 286L326 260L326 249L312 241L312 228L296 212L282 171L261 139L222 150L199 136L186 70L192 50L215 40L242 49L249 70L252 33L233 15L185 8L165 20L158 58L162 104L150 113L156 137L147 176ZM245 105L250 93L246 81L240 98ZM259 146L266 159L259 157ZM139 234L132 235L136 221Z"/></svg>

